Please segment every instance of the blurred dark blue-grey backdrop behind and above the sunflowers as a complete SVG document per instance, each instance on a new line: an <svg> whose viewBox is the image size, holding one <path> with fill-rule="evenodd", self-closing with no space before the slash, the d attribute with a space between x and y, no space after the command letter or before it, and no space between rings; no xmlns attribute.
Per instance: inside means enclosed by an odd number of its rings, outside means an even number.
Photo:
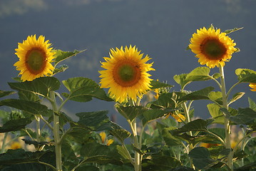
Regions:
<svg viewBox="0 0 256 171"><path fill-rule="evenodd" d="M87 49L61 64L68 70L58 73L59 80L83 76L99 82L100 61L110 48L135 45L154 61L151 78L167 81L180 90L173 76L189 73L200 66L191 51L185 51L196 29L213 24L222 31L244 27L231 33L239 53L225 65L227 88L236 83L236 68L255 70L256 53L255 0L0 0L0 90L11 90L7 82L18 75L13 64L18 42L29 35L46 36L53 48L63 51ZM218 71L214 68L211 73ZM191 83L187 90L213 86L213 81ZM232 94L246 94L233 103L233 108L247 107L247 98L256 101L256 93L248 84L237 86ZM215 89L218 90L217 88ZM60 93L66 91L61 88ZM193 103L195 117L209 118L206 100ZM92 100L88 103L69 102L65 111L75 113L109 110L120 125L125 120L116 113L114 103ZM125 126L126 127L126 126Z"/></svg>

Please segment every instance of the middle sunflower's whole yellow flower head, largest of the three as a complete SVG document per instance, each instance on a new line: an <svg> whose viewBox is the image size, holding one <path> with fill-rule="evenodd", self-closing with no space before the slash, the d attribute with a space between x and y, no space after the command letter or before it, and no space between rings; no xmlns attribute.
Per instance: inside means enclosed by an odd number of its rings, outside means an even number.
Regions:
<svg viewBox="0 0 256 171"><path fill-rule="evenodd" d="M108 93L116 102L127 102L129 98L136 101L150 90L152 79L147 72L155 70L151 68L153 63L146 63L150 58L148 55L143 58L143 53L135 46L110 51L110 57L103 57L106 62L101 63L106 70L99 71L101 88L109 88Z"/></svg>

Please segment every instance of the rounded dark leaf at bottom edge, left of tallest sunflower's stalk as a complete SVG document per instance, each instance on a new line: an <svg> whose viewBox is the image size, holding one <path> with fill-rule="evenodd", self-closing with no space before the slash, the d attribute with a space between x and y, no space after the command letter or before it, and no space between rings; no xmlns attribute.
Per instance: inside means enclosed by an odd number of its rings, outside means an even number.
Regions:
<svg viewBox="0 0 256 171"><path fill-rule="evenodd" d="M193 165L199 170L215 162L210 158L210 152L205 147L195 147L188 155L193 159Z"/></svg>

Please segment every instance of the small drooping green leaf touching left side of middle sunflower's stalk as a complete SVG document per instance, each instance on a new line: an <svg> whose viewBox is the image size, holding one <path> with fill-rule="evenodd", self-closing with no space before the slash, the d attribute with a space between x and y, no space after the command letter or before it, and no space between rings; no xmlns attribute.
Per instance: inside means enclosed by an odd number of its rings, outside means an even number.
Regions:
<svg viewBox="0 0 256 171"><path fill-rule="evenodd" d="M126 138L130 137L130 132L126 129L123 129L121 126L117 125L116 123L111 122L111 130L109 131L111 135L118 138L120 142L126 140Z"/></svg>

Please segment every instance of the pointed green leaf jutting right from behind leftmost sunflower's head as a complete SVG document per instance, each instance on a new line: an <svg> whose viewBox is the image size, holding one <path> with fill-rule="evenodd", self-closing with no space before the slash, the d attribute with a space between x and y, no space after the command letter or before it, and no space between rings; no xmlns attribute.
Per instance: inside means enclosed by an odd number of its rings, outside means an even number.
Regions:
<svg viewBox="0 0 256 171"><path fill-rule="evenodd" d="M71 51L61 51L60 49L56 50L55 55L54 55L54 56L56 56L55 61L54 61L55 62L54 68L61 61L66 60L67 58L70 58L71 56L76 56L78 53L82 53L84 51L86 51L86 49L82 50L82 51L75 50L73 52L71 52Z"/></svg>

